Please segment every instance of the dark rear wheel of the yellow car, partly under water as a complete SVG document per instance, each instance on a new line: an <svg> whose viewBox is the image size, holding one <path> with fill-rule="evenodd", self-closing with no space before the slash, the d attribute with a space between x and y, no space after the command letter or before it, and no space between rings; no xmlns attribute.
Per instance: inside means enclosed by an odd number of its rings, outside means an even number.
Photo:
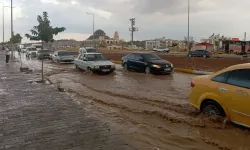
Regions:
<svg viewBox="0 0 250 150"><path fill-rule="evenodd" d="M219 117L219 116L224 117L225 116L223 108L216 102L212 102L212 101L209 101L203 104L201 111L206 116L211 116L211 117Z"/></svg>

